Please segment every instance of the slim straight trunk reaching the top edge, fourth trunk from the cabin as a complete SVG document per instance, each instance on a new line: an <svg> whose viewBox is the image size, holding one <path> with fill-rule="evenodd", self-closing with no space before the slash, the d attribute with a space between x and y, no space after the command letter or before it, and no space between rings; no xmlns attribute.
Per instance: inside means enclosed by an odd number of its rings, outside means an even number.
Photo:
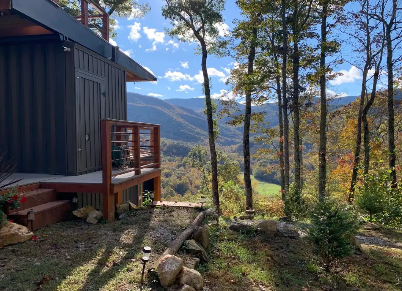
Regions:
<svg viewBox="0 0 402 291"><path fill-rule="evenodd" d="M283 28L283 54L282 54L282 100L283 100L283 163L285 172L285 196L289 191L289 119L287 116L286 96L286 62L287 62L287 23L286 1L282 0L282 28ZM289 215L285 199L285 215Z"/></svg>

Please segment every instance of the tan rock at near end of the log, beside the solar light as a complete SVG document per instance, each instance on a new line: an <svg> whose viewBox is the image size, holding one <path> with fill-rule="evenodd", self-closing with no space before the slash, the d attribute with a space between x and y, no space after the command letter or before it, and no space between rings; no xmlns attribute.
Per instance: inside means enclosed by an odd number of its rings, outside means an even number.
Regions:
<svg viewBox="0 0 402 291"><path fill-rule="evenodd" d="M169 287L176 281L177 275L183 270L183 260L171 255L166 255L156 267L160 284Z"/></svg>

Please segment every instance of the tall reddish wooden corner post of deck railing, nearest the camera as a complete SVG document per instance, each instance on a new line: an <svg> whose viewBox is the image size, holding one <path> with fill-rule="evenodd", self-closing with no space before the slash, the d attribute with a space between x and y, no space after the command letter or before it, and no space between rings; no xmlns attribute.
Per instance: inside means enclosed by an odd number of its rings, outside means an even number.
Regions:
<svg viewBox="0 0 402 291"><path fill-rule="evenodd" d="M85 2L85 1L83 1ZM103 217L109 221L115 220L114 196L111 193L112 184L112 144L111 123L100 121L102 144L102 185L103 185Z"/></svg>

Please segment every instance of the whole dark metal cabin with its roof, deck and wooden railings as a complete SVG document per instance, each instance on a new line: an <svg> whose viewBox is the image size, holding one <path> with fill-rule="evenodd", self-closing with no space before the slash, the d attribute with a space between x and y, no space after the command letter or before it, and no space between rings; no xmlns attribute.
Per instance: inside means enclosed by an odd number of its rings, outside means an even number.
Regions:
<svg viewBox="0 0 402 291"><path fill-rule="evenodd" d="M0 151L23 190L81 197L112 220L142 189L160 197L160 128L127 121L126 93L156 78L107 41L102 8L80 3L73 17L57 0L0 0Z"/></svg>

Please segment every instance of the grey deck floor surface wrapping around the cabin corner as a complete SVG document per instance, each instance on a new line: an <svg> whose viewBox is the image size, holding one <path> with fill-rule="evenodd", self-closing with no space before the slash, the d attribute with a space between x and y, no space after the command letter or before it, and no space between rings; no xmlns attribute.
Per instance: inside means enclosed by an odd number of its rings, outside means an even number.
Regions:
<svg viewBox="0 0 402 291"><path fill-rule="evenodd" d="M113 170L113 174L118 174L121 170ZM160 171L160 169L154 168L145 168L142 169L139 175L135 175L134 172L123 173L120 175L116 175L112 177L112 185L118 185L130 180L136 180L138 178L144 177L150 173L154 173L156 171ZM26 186L37 183L55 183L55 184L102 184L102 175L103 171L96 171L93 173L88 173L84 175L78 176L63 176L63 175L46 175L46 174L24 174L24 173L15 173L12 174L8 179L4 180L1 185L7 184L12 180L23 179L17 183L10 185L9 188L14 186Z"/></svg>

